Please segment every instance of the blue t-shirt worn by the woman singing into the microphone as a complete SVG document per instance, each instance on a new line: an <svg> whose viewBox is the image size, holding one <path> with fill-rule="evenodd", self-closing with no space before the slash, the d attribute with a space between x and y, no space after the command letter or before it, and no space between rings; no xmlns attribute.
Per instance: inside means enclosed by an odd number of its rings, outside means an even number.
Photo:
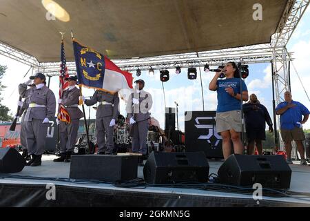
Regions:
<svg viewBox="0 0 310 221"><path fill-rule="evenodd" d="M247 91L247 86L245 81L242 82L242 91ZM216 82L218 86L218 108L216 112L226 112L226 111L236 111L241 109L241 102L239 99L236 99L229 95L226 92L225 88L231 87L234 89L235 93L240 94L240 79L239 78L228 78L228 79L219 79Z"/></svg>

